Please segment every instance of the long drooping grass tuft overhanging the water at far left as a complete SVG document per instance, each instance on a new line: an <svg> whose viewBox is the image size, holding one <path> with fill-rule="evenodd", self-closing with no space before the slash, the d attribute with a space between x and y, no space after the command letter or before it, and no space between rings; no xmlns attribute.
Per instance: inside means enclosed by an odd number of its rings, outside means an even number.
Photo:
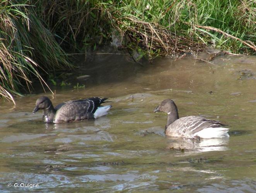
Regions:
<svg viewBox="0 0 256 193"><path fill-rule="evenodd" d="M13 96L31 91L35 78L48 87L40 73L71 67L67 54L36 16L35 7L26 4L29 1L19 2L0 3L0 95L12 102Z"/></svg>

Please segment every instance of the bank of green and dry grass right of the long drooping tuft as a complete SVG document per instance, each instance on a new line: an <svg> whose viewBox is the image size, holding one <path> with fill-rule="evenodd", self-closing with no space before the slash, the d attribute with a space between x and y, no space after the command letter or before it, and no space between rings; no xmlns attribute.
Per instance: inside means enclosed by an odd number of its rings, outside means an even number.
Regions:
<svg viewBox="0 0 256 193"><path fill-rule="evenodd" d="M253 0L52 0L40 5L49 29L63 38L63 47L70 48L70 42L73 49L95 48L108 44L114 33L123 47L151 57L204 46L256 52Z"/></svg>

